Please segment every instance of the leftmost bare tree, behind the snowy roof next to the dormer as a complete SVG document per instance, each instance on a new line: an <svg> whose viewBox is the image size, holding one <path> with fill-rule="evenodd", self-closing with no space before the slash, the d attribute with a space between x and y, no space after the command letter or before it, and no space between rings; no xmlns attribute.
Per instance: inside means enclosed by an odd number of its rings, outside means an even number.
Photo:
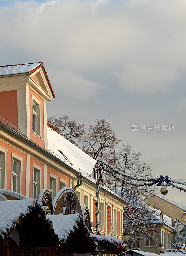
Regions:
<svg viewBox="0 0 186 256"><path fill-rule="evenodd" d="M55 126L64 138L70 140L74 145L79 146L78 144L85 134L84 124L77 124L68 115L63 115L62 117L50 116L47 118L47 122Z"/></svg>

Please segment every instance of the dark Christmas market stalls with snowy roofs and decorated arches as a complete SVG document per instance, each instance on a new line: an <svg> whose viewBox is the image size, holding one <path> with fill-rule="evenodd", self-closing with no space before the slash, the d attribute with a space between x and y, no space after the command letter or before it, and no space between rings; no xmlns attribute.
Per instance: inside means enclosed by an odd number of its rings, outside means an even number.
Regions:
<svg viewBox="0 0 186 256"><path fill-rule="evenodd" d="M61 189L53 202L47 189L39 201L0 190L0 255L97 255L122 252L125 246L114 236L92 232L89 209L81 210L71 188Z"/></svg>

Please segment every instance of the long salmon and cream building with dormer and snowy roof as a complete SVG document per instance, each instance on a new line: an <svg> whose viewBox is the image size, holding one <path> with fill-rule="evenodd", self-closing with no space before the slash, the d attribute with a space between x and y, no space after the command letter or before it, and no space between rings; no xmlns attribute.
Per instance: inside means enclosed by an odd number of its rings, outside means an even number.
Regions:
<svg viewBox="0 0 186 256"><path fill-rule="evenodd" d="M43 62L0 67L0 188L27 198L44 188L52 200L77 185L81 208L96 224L96 161L47 125L47 101L55 97ZM121 238L126 202L100 183L100 233ZM94 224L93 224L94 223Z"/></svg>

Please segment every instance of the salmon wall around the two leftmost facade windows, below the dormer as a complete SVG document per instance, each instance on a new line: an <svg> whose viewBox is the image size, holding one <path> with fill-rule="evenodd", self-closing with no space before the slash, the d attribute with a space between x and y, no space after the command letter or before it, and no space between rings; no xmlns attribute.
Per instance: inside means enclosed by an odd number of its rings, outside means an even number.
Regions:
<svg viewBox="0 0 186 256"><path fill-rule="evenodd" d="M0 140L0 145L3 148L7 149L7 182L6 182L6 189L11 190L11 178L12 178L12 152L18 156L23 158L23 173L22 173L22 195L25 196L25 184L26 184L26 154L22 153L21 151L11 147L10 145L6 144L5 142Z"/></svg>

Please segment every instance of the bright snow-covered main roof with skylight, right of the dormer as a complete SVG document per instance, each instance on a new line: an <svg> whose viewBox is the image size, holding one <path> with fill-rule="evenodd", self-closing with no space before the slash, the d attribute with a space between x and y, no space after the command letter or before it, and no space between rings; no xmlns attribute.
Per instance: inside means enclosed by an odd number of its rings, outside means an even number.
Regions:
<svg viewBox="0 0 186 256"><path fill-rule="evenodd" d="M95 159L87 155L50 127L47 127L47 135L48 151L50 153L55 153L57 158L67 163L78 172L81 169L89 175L92 173L94 165L96 164Z"/></svg>

